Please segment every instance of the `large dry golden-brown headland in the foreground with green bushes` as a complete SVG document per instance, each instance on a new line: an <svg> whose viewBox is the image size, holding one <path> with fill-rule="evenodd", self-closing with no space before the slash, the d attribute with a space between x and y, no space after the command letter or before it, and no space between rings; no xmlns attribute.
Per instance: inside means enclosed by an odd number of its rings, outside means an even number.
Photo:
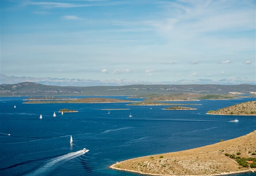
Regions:
<svg viewBox="0 0 256 176"><path fill-rule="evenodd" d="M256 131L190 150L128 159L109 166L155 176L226 175L256 171Z"/></svg>

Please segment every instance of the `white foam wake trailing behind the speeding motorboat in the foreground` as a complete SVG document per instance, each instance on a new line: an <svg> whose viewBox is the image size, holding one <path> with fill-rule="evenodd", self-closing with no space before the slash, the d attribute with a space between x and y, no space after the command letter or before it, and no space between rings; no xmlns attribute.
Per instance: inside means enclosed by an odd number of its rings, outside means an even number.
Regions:
<svg viewBox="0 0 256 176"><path fill-rule="evenodd" d="M86 152L88 152L89 150L79 150L77 152L72 152L69 154L65 154L63 156L54 158L53 160L50 160L47 164L43 165L41 168L38 168L37 170L30 172L28 174L26 174L26 176L38 176L38 175L46 175L47 173L53 171L53 169L55 169L55 167L57 166L56 164L61 162L61 161L69 161L72 160L76 157L79 157L80 155L85 154Z"/></svg>

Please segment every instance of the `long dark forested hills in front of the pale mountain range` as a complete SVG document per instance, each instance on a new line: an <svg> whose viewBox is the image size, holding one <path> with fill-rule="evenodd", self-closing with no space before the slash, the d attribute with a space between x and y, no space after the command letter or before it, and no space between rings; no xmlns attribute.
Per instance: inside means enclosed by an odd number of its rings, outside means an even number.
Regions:
<svg viewBox="0 0 256 176"><path fill-rule="evenodd" d="M32 82L1 84L0 96L86 96L86 95L148 95L172 93L228 94L256 92L256 85L125 85L125 86L50 86Z"/></svg>

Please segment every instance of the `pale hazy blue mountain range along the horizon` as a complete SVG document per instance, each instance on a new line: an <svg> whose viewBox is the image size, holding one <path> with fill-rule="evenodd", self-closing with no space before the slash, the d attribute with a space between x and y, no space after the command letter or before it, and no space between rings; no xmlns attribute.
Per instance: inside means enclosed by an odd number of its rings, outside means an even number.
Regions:
<svg viewBox="0 0 256 176"><path fill-rule="evenodd" d="M218 81L211 79L197 79L197 80L179 80L179 81L162 81L162 82L150 82L150 81L132 81L128 79L120 80L90 80L90 79L67 79L67 78L51 78L51 77L15 77L0 74L0 84L18 84L21 82L34 82L45 85L56 86L120 86L120 85L132 85L132 84L219 84L219 85L238 85L238 84L252 84L255 85L255 80L249 80L247 78L236 77L227 78Z"/></svg>

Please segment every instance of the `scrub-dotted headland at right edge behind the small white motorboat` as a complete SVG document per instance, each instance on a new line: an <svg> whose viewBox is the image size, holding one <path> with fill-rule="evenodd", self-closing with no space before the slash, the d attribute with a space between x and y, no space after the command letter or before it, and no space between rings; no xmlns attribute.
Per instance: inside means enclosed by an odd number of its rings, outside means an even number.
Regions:
<svg viewBox="0 0 256 176"><path fill-rule="evenodd" d="M209 110L207 114L214 115L256 115L256 101L239 103L219 110Z"/></svg>

